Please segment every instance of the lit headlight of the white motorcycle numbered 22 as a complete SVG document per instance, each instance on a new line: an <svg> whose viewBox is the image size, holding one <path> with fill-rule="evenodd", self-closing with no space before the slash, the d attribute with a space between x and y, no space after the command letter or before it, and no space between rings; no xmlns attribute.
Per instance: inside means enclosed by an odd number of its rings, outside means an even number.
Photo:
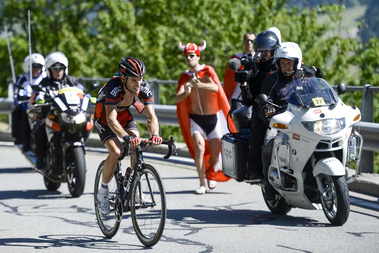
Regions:
<svg viewBox="0 0 379 253"><path fill-rule="evenodd" d="M341 119L321 119L312 122L301 123L305 129L317 134L337 134L345 128L345 118Z"/></svg>

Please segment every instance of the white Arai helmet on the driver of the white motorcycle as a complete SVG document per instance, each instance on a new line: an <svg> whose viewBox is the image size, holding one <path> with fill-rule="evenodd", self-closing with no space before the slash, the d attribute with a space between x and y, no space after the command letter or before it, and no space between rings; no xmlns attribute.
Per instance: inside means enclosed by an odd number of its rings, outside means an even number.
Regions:
<svg viewBox="0 0 379 253"><path fill-rule="evenodd" d="M275 58L278 69L280 69L280 64L278 64L280 58L294 60L294 71L301 68L302 53L299 45L295 42L283 42L280 44L275 51Z"/></svg>

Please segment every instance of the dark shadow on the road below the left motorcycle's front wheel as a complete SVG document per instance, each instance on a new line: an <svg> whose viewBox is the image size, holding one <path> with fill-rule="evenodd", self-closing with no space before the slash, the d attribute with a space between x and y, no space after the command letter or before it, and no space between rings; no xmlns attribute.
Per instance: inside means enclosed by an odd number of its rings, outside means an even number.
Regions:
<svg viewBox="0 0 379 253"><path fill-rule="evenodd" d="M83 193L82 195L93 194ZM21 198L26 200L51 200L51 199L65 199L72 198L71 195L63 195L59 191L48 190L10 190L0 191L0 200L9 200L14 198Z"/></svg>

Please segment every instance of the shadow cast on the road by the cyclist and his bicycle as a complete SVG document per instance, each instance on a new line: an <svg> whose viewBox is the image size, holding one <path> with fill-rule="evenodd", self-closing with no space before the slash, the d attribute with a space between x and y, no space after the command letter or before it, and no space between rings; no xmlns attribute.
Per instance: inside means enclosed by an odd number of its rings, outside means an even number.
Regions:
<svg viewBox="0 0 379 253"><path fill-rule="evenodd" d="M2 238L2 246L32 247L34 249L45 249L65 246L79 248L92 248L102 250L145 250L151 249L143 245L121 244L116 240L103 236L90 235L47 235L38 238ZM73 248L71 248L73 249ZM12 250L9 250L12 252ZM75 252L75 250L74 250Z"/></svg>

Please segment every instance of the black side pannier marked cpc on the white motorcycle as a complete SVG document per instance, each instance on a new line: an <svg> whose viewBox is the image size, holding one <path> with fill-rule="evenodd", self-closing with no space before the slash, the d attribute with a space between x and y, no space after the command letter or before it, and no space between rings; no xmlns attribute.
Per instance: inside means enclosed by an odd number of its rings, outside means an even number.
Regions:
<svg viewBox="0 0 379 253"><path fill-rule="evenodd" d="M221 138L222 172L238 182L245 179L249 138L242 134L226 134Z"/></svg>

